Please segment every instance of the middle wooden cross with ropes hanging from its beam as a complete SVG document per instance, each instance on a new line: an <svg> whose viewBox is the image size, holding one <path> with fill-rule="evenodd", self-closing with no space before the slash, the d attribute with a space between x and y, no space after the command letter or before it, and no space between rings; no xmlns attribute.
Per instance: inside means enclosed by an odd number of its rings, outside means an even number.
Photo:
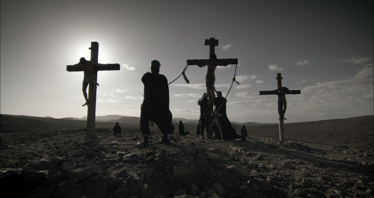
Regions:
<svg viewBox="0 0 374 198"><path fill-rule="evenodd" d="M218 46L218 40L215 38L210 38L210 39L205 39L205 44L204 45L209 45L209 55L211 55L214 52L215 46ZM199 59L199 60L187 60L188 65L198 65L199 67L203 67L203 64L209 61L209 59ZM217 59L216 61L219 63L221 66L226 66L230 64L238 64L238 59ZM213 131L210 129L210 125L213 123L213 104L208 104L208 110L207 110L207 138L212 138L213 137Z"/></svg>

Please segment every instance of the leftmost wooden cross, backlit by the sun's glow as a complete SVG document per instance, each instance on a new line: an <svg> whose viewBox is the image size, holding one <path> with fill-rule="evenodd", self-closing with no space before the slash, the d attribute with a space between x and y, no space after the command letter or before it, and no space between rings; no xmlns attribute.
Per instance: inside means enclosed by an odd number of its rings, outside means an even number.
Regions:
<svg viewBox="0 0 374 198"><path fill-rule="evenodd" d="M91 59L92 63L98 63L99 57L99 43L91 42L91 47L88 48L91 50ZM96 64L95 65L95 81L98 79L98 71L105 70L120 70L120 64ZM79 65L67 65L67 71L83 71L82 66ZM88 85L88 99L90 104L87 105L87 137L95 137L95 118L96 118L96 83L89 82Z"/></svg>

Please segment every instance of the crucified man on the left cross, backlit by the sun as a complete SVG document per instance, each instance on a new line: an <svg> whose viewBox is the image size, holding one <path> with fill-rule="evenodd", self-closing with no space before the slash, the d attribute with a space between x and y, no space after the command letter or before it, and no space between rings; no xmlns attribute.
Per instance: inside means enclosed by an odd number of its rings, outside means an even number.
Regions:
<svg viewBox="0 0 374 198"><path fill-rule="evenodd" d="M99 86L99 83L96 82L95 68L94 66L100 65L99 63L92 63L87 61L84 57L79 59L79 63L74 66L81 66L84 71L83 83L82 83L82 92L86 103L82 106L89 105L90 102L87 97L87 87L89 83L94 83Z"/></svg>

